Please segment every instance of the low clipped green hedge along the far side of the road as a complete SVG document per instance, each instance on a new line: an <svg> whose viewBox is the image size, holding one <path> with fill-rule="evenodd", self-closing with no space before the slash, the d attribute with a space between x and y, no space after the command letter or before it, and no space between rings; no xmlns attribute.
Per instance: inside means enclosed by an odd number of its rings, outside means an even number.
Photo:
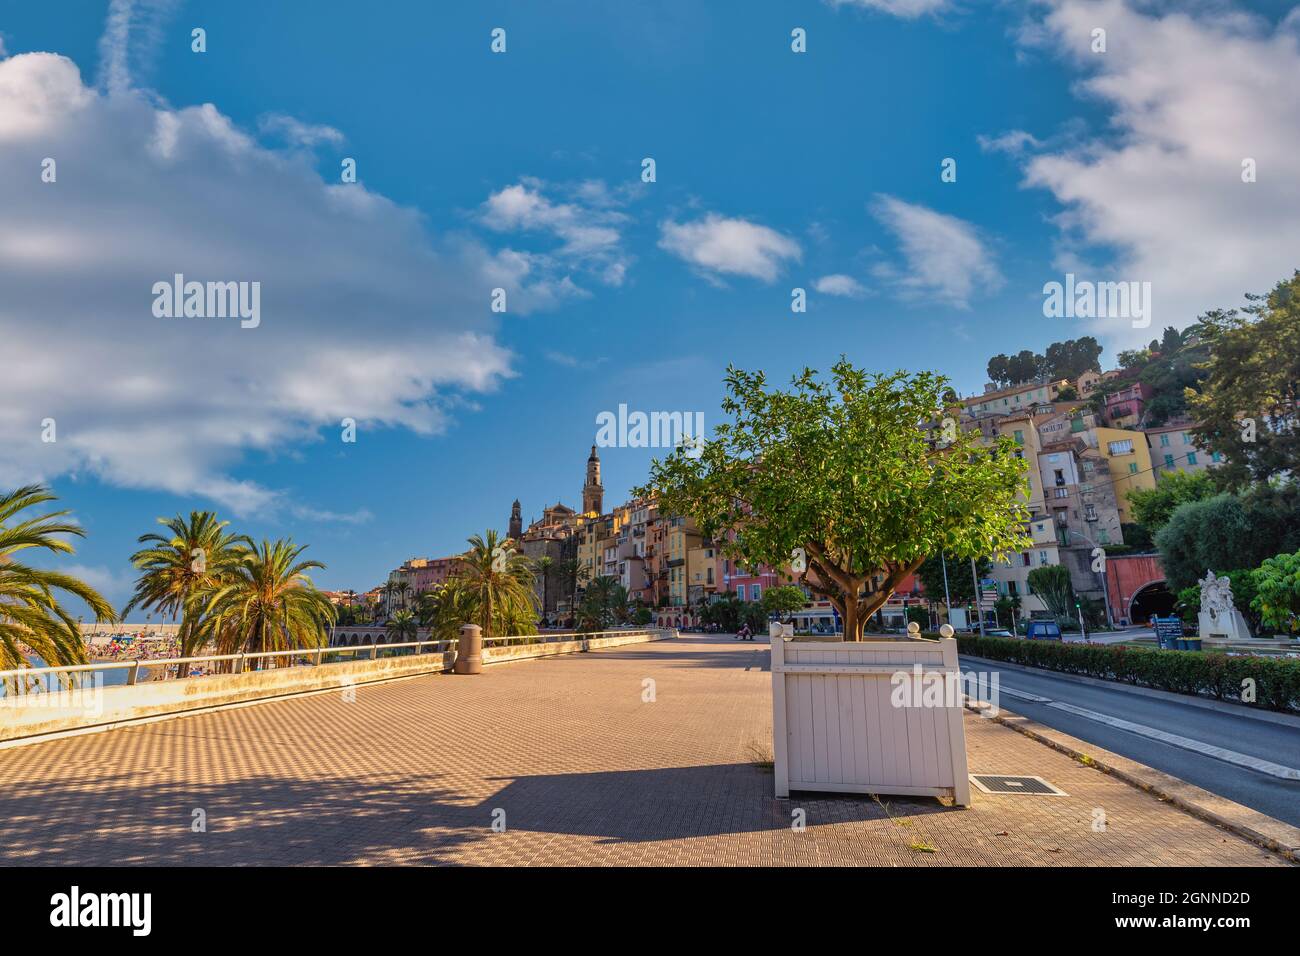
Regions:
<svg viewBox="0 0 1300 956"><path fill-rule="evenodd" d="M1253 678L1252 706L1300 713L1300 659L1294 658L1228 657L978 635L958 635L957 646L963 654L991 661L1236 702L1242 702L1242 682Z"/></svg>

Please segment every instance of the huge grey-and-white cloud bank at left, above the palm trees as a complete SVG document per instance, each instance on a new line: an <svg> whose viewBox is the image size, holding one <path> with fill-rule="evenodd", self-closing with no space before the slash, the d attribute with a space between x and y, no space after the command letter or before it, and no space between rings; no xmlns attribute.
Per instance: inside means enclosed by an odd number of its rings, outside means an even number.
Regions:
<svg viewBox="0 0 1300 956"><path fill-rule="evenodd" d="M57 182L32 173L46 156ZM51 53L3 60L0 208L0 485L91 473L291 510L233 470L339 441L343 418L360 441L438 433L458 395L511 375L477 268L490 254L434 243L417 212L322 182L211 104L99 94ZM155 317L174 273L260 282L260 326Z"/></svg>

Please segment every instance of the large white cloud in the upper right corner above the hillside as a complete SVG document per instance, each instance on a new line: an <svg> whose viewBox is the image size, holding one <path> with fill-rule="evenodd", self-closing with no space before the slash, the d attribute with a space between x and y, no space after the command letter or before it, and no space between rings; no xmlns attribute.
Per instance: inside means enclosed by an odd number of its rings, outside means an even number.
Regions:
<svg viewBox="0 0 1300 956"><path fill-rule="evenodd" d="M1226 7L1199 16L1121 0L1054 0L1022 42L1082 73L1110 111L1101 135L1026 163L1026 182L1065 212L1057 268L1149 281L1153 326L1236 306L1300 265L1300 47L1292 25ZM1041 10L1040 10L1041 12ZM1104 25L1106 52L1092 53ZM1256 160L1258 181L1242 182ZM1060 278L1058 276L1050 278ZM1095 326L1119 346L1150 338L1128 320Z"/></svg>

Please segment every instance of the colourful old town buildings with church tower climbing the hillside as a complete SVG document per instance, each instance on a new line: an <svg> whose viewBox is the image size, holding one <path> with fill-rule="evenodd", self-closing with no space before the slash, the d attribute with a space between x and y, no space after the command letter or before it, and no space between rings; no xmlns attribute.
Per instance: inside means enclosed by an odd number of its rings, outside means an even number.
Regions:
<svg viewBox="0 0 1300 956"><path fill-rule="evenodd" d="M998 594L1019 600L1020 618L1049 614L1030 585L1030 571L1037 567L1065 566L1078 594L1101 600L1105 585L1095 570L1096 555L1098 549L1126 544L1124 527L1132 522L1128 493L1154 488L1174 472L1219 463L1217 455L1197 447L1192 423L1147 427L1150 398L1150 388L1127 371L1088 369L1072 381L987 385L983 393L959 399L959 428L979 431L989 445L1009 440L1027 464L1020 501L1030 515L1031 545L1002 555L989 572ZM728 596L759 602L772 588L797 584L788 567L738 566L694 522L660 514L653 501L606 509L594 445L580 502L581 510L575 510L556 501L526 524L521 503L511 505L507 533L538 570L537 606L545 623L571 622L585 588L602 576L618 581L629 602L649 609L656 624L668 627L698 624L703 606ZM459 561L460 555L411 558L390 572L390 587L373 594L384 613L413 606L421 592L445 583ZM954 567L953 574L962 571ZM810 628L833 630L837 617L831 605L807 588L805 594L807 606L797 619ZM902 627L909 604L940 598L924 594L919 581L909 579L878 623Z"/></svg>

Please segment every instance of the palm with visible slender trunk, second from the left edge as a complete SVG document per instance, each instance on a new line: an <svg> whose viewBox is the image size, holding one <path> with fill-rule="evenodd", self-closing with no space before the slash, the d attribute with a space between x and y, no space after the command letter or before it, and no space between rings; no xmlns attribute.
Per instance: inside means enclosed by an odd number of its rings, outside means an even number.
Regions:
<svg viewBox="0 0 1300 956"><path fill-rule="evenodd" d="M252 542L226 532L229 522L218 522L212 511L191 511L188 522L181 515L170 520L159 518L159 524L170 533L138 538L147 546L131 555L131 563L142 574L122 617L134 607L152 609L173 619L179 615L181 657L188 657L202 646L196 635L203 601L213 588L230 580Z"/></svg>

